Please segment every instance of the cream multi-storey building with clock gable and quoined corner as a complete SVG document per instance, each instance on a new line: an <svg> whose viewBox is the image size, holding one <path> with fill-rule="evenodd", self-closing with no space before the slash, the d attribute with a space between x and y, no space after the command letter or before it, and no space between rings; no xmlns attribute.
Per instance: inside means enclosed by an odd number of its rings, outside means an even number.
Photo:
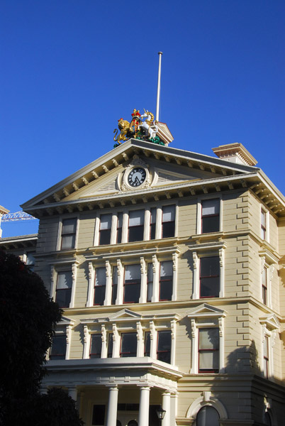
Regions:
<svg viewBox="0 0 285 426"><path fill-rule="evenodd" d="M22 206L64 308L43 391L86 426L284 425L285 199L213 151L130 139Z"/></svg>

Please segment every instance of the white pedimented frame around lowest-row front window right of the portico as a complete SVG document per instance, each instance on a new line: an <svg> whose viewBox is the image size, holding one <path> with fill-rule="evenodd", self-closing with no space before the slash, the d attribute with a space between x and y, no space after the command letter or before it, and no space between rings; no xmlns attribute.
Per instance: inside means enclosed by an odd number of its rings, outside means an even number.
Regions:
<svg viewBox="0 0 285 426"><path fill-rule="evenodd" d="M219 371L218 373L225 372L225 336L224 336L224 319L226 312L203 303L198 307L187 312L186 317L191 322L191 374L199 373L199 329L202 328L216 328L219 331ZM208 320L207 322L199 322L199 320ZM216 374L218 374L216 373ZM205 373L207 374L207 373ZM215 374L215 373L211 373Z"/></svg>

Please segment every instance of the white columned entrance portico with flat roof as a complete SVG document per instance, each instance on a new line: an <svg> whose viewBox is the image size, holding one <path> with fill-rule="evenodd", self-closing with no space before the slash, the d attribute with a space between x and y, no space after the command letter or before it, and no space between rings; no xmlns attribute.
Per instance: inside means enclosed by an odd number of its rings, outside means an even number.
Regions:
<svg viewBox="0 0 285 426"><path fill-rule="evenodd" d="M48 361L47 370L43 387L67 388L86 426L125 426L130 420L148 426L160 405L166 411L162 426L172 425L175 418L177 380L182 373L162 361L149 357L57 360ZM104 423L98 420L99 411Z"/></svg>

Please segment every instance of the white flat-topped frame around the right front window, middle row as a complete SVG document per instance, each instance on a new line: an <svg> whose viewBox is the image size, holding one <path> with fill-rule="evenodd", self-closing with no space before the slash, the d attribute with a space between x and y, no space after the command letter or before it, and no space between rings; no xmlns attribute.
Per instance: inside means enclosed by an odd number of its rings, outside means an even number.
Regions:
<svg viewBox="0 0 285 426"><path fill-rule="evenodd" d="M201 244L189 247L193 258L193 285L192 296L193 300L200 299L200 258L217 256L220 261L220 291L218 297L225 296L225 247L226 244L216 244L208 246ZM212 297L211 297L212 298ZM215 297L213 297L215 298Z"/></svg>

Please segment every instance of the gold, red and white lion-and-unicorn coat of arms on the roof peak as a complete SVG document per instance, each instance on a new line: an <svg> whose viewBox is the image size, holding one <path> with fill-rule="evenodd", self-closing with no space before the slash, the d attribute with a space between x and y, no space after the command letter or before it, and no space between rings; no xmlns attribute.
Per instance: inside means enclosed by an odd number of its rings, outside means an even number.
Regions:
<svg viewBox="0 0 285 426"><path fill-rule="evenodd" d="M145 119L145 121L143 121L143 119ZM121 133L118 134L118 129L113 131L113 133L115 133L114 141L117 142L114 145L114 148L119 146L122 141L128 141L130 138L141 139L143 141L150 141L164 145L164 143L160 141L160 138L156 136L158 129L155 116L150 111L145 111L145 114L140 115L140 111L134 109L132 120L129 122L124 119L119 119L118 128Z"/></svg>

